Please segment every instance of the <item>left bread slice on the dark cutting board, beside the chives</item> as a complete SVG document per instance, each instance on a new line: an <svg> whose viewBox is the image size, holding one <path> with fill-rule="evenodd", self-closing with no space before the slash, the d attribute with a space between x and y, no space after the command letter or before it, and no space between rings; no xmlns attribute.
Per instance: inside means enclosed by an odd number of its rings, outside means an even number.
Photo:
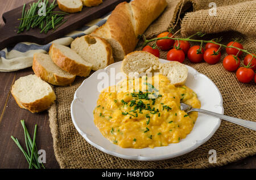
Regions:
<svg viewBox="0 0 256 180"><path fill-rule="evenodd" d="M81 0L57 0L61 11L75 13L82 11Z"/></svg>

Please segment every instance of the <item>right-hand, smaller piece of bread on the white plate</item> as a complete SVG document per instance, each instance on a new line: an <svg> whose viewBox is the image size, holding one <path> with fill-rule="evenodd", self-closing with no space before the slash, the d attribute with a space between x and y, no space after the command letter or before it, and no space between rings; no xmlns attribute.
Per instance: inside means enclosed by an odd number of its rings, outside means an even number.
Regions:
<svg viewBox="0 0 256 180"><path fill-rule="evenodd" d="M167 76L174 85L183 85L188 78L188 68L177 61L161 63L159 73Z"/></svg>

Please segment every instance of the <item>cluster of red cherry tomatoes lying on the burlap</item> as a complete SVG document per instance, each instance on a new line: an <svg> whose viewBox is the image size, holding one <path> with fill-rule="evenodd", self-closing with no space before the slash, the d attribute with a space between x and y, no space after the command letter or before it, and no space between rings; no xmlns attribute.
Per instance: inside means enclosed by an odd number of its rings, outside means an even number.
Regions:
<svg viewBox="0 0 256 180"><path fill-rule="evenodd" d="M159 38L167 36L173 37L172 33L170 32L160 33L160 35L157 37ZM185 56L187 55L189 61L192 63L200 63L204 60L210 65L215 65L216 63L220 62L221 58L220 45L212 42L208 42L205 45L205 48L203 48L199 45L191 47L188 41L162 39L156 41L156 45L161 50L169 50L167 53L167 60L169 61L178 61L183 63ZM240 67L241 60L239 57L242 55L242 52L236 48L229 48L229 46L243 49L242 44L239 42L229 42L226 48L226 53L228 55L223 60L223 67L228 71L237 71L237 79L242 83L250 83L253 79L256 83L256 74L254 73L254 71L256 71L256 58L250 54L246 55L245 59L243 60L243 64L245 66ZM145 46L143 50L154 54L156 57L159 57L160 53L156 47L152 48L151 46Z"/></svg>

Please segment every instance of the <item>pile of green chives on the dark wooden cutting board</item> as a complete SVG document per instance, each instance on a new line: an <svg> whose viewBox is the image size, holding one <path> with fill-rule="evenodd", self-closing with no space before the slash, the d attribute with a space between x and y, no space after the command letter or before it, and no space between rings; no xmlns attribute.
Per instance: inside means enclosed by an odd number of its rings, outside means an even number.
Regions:
<svg viewBox="0 0 256 180"><path fill-rule="evenodd" d="M18 27L18 32L21 33L26 31L29 31L30 28L36 28L38 27L40 29L40 33L44 32L47 33L51 29L55 31L57 28L59 28L62 24L67 22L67 20L64 20L65 15L69 15L66 12L62 11L53 11L57 4L55 4L55 0L52 3L49 3L48 0L44 0L43 3L46 5L46 15L40 16L38 14L39 11L39 3L42 3L42 0L39 0L36 3L30 4L30 9L26 9L26 5L23 6L22 10L22 18L18 19L20 20L20 24ZM53 32L52 31L52 32Z"/></svg>

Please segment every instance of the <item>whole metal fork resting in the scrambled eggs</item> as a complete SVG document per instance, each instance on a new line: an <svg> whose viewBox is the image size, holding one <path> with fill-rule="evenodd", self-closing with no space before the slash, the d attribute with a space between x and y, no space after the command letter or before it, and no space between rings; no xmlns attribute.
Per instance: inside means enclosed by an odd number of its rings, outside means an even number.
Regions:
<svg viewBox="0 0 256 180"><path fill-rule="evenodd" d="M204 110L204 109L192 108L191 105L184 104L184 103L180 103L180 109L184 110L184 112L186 112L186 113L199 112L199 113L211 115L213 117L220 118L220 119L223 119L225 121L229 121L229 122L235 123L237 125L247 127L247 128L250 128L251 130L256 131L256 122L253 122L253 121L246 121L246 120L243 120L243 119L233 118L233 117L230 117L228 115L213 113L213 112L210 112L210 111Z"/></svg>

